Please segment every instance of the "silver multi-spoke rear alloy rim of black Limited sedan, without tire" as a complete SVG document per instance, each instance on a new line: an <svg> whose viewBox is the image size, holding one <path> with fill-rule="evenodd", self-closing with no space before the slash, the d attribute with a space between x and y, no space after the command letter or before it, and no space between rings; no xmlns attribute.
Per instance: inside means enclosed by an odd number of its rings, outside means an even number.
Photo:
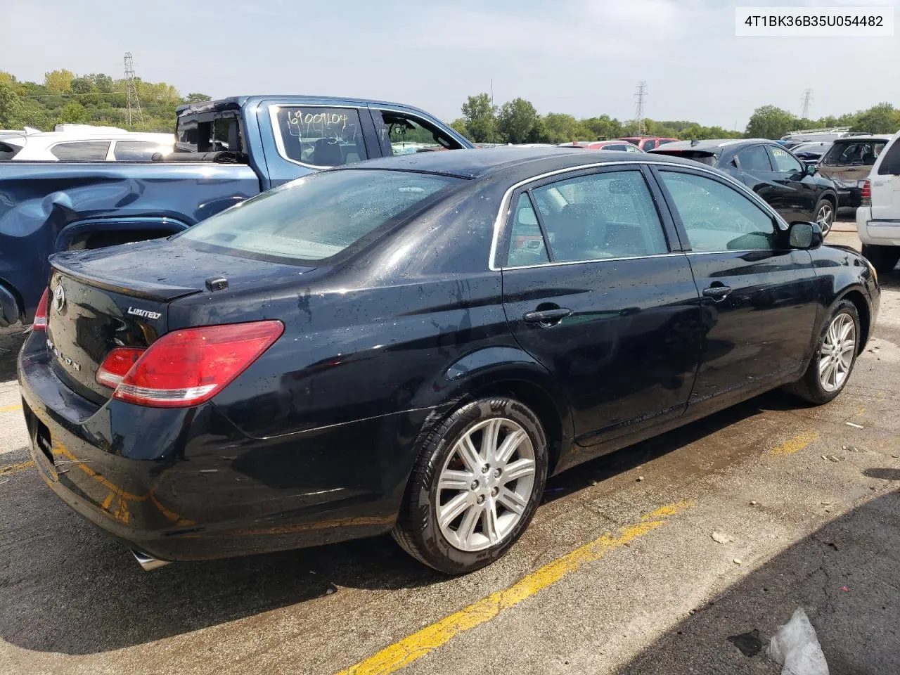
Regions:
<svg viewBox="0 0 900 675"><path fill-rule="evenodd" d="M437 525L461 551L482 551L509 536L535 485L535 449L508 418L466 428L437 478Z"/></svg>

